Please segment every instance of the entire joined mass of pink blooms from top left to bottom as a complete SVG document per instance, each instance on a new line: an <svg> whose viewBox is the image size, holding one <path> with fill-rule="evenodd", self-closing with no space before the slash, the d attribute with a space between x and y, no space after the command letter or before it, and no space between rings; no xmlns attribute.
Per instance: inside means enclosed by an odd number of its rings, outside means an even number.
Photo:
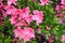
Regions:
<svg viewBox="0 0 65 43"><path fill-rule="evenodd" d="M31 38L35 38L34 29L27 26L29 26L32 20L36 20L37 26L39 26L39 24L41 24L43 19L43 12L34 10L31 14L29 6L26 6L24 9L16 9L14 5L17 5L17 0L6 1L8 4L3 6L4 11L2 12L4 17L8 17L10 15L10 23L17 27L13 30L15 37L20 40L23 39L25 42L29 41ZM2 5L0 5L0 8L2 8ZM22 26L25 26L24 29L22 29Z"/></svg>

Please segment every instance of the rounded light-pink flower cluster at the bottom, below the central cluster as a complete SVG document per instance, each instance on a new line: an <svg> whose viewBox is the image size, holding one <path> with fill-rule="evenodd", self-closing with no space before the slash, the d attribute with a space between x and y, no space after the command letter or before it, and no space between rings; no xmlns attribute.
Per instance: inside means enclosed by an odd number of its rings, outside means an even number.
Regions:
<svg viewBox="0 0 65 43"><path fill-rule="evenodd" d="M13 30L16 38L20 38L20 40L29 41L31 38L35 38L35 31L32 28L25 27L22 29L21 27L17 27Z"/></svg>

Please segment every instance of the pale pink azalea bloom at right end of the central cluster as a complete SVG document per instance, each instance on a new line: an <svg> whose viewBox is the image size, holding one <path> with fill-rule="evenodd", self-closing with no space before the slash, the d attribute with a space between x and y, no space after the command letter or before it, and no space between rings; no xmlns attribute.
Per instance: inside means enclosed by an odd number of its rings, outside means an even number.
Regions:
<svg viewBox="0 0 65 43"><path fill-rule="evenodd" d="M32 15L32 19L36 20L37 25L42 23L43 13L41 11L35 10L32 11L35 15Z"/></svg>

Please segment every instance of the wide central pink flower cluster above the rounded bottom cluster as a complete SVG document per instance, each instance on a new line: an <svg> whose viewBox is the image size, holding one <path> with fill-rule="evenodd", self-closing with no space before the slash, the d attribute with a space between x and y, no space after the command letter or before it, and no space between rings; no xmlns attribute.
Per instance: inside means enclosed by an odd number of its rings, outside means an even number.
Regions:
<svg viewBox="0 0 65 43"><path fill-rule="evenodd" d="M39 25L43 19L43 13L41 11L35 10L35 15L32 15L30 14L29 6L26 6L25 9L15 9L12 5L6 5L5 10L6 14L11 15L11 24L15 26L28 26L32 20L36 20L37 25Z"/></svg>

